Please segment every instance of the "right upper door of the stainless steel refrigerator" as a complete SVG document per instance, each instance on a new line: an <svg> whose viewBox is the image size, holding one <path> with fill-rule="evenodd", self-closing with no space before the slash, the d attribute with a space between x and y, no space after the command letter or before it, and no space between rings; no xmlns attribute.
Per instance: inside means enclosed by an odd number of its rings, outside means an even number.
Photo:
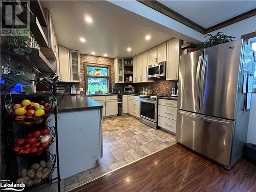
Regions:
<svg viewBox="0 0 256 192"><path fill-rule="evenodd" d="M200 82L201 114L235 119L242 40L206 48Z"/></svg>

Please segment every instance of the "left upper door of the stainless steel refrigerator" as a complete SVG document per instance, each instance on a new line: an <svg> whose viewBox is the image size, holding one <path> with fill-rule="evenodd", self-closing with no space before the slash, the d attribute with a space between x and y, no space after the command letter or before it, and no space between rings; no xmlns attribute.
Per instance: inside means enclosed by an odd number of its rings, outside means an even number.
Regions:
<svg viewBox="0 0 256 192"><path fill-rule="evenodd" d="M178 109L199 112L199 80L202 50L180 57Z"/></svg>

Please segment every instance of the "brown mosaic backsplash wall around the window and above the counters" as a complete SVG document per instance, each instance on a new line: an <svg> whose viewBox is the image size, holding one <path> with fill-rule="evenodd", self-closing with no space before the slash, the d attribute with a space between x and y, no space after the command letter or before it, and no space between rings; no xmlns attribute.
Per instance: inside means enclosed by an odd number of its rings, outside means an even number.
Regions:
<svg viewBox="0 0 256 192"><path fill-rule="evenodd" d="M99 56L93 56L93 55L85 55L80 54L80 75L81 75L81 82L80 83L58 83L61 84L61 86L64 86L67 90L66 94L70 94L70 86L72 84L75 84L77 87L77 90L79 88L83 88L83 92L81 94L84 94L86 92L86 81L84 79L84 63L94 63L94 64L108 64L111 66L110 68L110 83L115 84L114 79L114 59L113 58L107 58L107 57L99 57ZM121 92L123 92L123 87L128 86L128 84L123 83L116 83L115 88L120 89ZM171 95L172 94L172 87L175 87L174 81L166 81L165 79L155 79L155 82L150 83L132 83L132 86L135 87L135 92L139 93L142 88L151 87L153 89L153 93L156 95ZM110 90L111 91L111 90Z"/></svg>

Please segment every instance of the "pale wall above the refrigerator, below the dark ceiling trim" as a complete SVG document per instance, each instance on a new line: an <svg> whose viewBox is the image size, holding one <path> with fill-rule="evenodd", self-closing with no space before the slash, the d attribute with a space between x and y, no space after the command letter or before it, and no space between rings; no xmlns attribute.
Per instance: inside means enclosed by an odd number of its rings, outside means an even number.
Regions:
<svg viewBox="0 0 256 192"><path fill-rule="evenodd" d="M236 39L240 39L241 35L256 31L256 15L210 33L215 35L219 31L226 35L236 37Z"/></svg>

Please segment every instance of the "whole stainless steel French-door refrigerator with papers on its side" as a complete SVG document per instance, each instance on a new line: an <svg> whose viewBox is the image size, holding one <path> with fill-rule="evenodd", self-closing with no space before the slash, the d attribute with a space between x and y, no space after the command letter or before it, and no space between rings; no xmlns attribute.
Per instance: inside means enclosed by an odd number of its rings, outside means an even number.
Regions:
<svg viewBox="0 0 256 192"><path fill-rule="evenodd" d="M255 68L243 39L180 57L176 140L230 168L242 156Z"/></svg>

